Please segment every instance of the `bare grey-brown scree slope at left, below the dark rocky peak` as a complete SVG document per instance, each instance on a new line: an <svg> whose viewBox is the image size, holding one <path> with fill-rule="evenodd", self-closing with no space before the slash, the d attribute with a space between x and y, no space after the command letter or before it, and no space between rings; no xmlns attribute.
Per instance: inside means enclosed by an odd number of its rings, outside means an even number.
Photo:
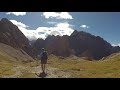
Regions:
<svg viewBox="0 0 120 90"><path fill-rule="evenodd" d="M3 43L0 43L0 56L3 57L3 58L0 58L1 60L8 59L8 61L29 62L34 60L22 49L15 49Z"/></svg>

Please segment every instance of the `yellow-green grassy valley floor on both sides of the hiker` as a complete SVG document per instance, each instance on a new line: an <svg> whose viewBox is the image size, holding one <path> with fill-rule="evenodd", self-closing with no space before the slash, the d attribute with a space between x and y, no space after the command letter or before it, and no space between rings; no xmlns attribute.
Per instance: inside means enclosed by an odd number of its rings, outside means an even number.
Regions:
<svg viewBox="0 0 120 90"><path fill-rule="evenodd" d="M1 78L36 78L34 73L40 70L39 61L19 62L10 60L10 57L6 57L4 54L0 52ZM57 71L52 71L50 67L57 68ZM74 57L61 59L50 56L48 71L52 73L50 77L53 78L55 74L58 77L65 77L64 74L67 73L71 78L120 78L120 53L103 61L88 61Z"/></svg>

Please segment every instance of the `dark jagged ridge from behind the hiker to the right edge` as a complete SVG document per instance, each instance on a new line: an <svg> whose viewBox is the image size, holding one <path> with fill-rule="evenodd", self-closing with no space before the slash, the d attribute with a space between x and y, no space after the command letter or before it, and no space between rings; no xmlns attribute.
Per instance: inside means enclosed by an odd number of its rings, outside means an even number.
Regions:
<svg viewBox="0 0 120 90"><path fill-rule="evenodd" d="M113 49L110 43L99 36L76 30L71 36L48 36L45 40L37 40L33 45L37 52L40 52L43 47L49 54L56 56L67 57L74 54L96 60L120 51L118 48Z"/></svg>

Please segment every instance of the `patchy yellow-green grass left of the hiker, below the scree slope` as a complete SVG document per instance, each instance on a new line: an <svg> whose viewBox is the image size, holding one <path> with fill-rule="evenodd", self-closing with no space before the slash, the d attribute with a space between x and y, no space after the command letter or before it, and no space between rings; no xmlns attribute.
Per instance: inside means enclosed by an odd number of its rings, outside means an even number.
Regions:
<svg viewBox="0 0 120 90"><path fill-rule="evenodd" d="M39 63L39 62L38 62ZM0 78L32 78L35 68L39 64L36 62L13 61L0 55Z"/></svg>

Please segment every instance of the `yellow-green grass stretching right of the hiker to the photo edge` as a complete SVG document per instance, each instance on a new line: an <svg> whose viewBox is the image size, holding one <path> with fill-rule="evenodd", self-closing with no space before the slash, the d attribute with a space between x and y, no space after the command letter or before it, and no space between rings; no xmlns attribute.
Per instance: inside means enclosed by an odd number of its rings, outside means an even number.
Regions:
<svg viewBox="0 0 120 90"><path fill-rule="evenodd" d="M72 78L120 78L120 54L104 61L50 59L50 66L69 72Z"/></svg>

